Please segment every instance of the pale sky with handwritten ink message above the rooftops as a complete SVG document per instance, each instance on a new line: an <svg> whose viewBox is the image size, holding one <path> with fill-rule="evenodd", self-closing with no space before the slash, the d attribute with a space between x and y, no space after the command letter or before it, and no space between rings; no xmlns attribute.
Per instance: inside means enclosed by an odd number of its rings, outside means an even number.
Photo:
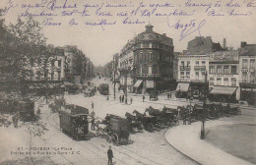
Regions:
<svg viewBox="0 0 256 165"><path fill-rule="evenodd" d="M226 38L226 45L235 49L241 41L256 43L256 8L252 6L256 6L255 0L0 2L0 8L9 9L4 16L7 25L15 24L19 16L26 19L26 13L36 15L33 19L43 27L47 43L55 46L77 45L96 66L111 61L112 56L119 53L128 40L143 32L148 24L154 26L154 31L166 33L173 39L174 51L185 50L187 42L199 35L212 36L214 42L221 44ZM160 14L165 16L157 16ZM100 22L109 25L98 25Z"/></svg>

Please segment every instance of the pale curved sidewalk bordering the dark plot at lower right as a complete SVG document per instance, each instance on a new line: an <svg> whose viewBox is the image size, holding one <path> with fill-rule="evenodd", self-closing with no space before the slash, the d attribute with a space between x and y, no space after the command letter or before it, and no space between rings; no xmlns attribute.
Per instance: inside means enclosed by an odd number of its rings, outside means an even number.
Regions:
<svg viewBox="0 0 256 165"><path fill-rule="evenodd" d="M207 121L206 129L229 124L231 124L231 122L220 120ZM201 122L196 122L192 125L180 125L169 129L164 137L171 146L202 165L251 164L250 162L226 153L205 140L200 139L200 130Z"/></svg>

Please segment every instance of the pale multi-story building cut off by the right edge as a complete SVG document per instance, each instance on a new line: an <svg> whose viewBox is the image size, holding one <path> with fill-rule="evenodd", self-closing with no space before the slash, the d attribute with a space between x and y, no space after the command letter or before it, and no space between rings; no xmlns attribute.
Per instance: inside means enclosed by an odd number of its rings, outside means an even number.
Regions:
<svg viewBox="0 0 256 165"><path fill-rule="evenodd" d="M241 42L239 53L240 100L256 103L256 44Z"/></svg>

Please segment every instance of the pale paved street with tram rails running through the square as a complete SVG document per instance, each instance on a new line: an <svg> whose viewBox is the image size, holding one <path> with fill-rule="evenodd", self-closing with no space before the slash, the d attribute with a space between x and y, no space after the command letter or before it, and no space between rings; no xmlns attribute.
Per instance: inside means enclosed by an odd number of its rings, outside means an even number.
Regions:
<svg viewBox="0 0 256 165"><path fill-rule="evenodd" d="M108 80L94 79L92 83L98 85L99 83L109 83ZM110 84L112 87L112 84ZM117 90L116 90L117 91ZM154 108L161 109L163 105L167 107L176 108L188 104L186 100L182 99L171 99L167 100L165 95L160 95L159 101L150 101L146 96L145 102L142 101L142 95L128 94L128 105L119 102L119 95L122 92L116 94L116 99L113 98L113 88L110 88L109 100L106 100L105 95L101 95L98 92L93 97L85 97L83 93L80 94L66 94L65 99L67 103L80 105L86 107L92 112L91 104L92 101L95 104L96 118L104 118L106 114L114 114L121 117L125 117L125 113L132 113L134 110L138 110L143 113L145 108L153 106ZM133 98L133 103L130 104L129 99ZM39 103L40 102L40 103ZM1 147L6 148L5 150L16 151L17 146L23 146L28 148L30 146L35 147L49 147L54 146L53 149L60 151L56 155L45 155L35 154L32 155L34 161L39 162L40 158L43 163L52 162L57 164L106 164L107 156L106 150L110 145L103 138L94 137L90 140L75 141L67 135L63 134L59 130L59 116L57 113L52 113L44 100L40 99L36 104L44 104L41 110L41 121L46 123L48 131L40 137L30 137L26 133L26 130L31 126L29 123L20 123L19 129L15 130L13 126L7 128L0 128L1 133L4 133L0 141L3 141L8 134L12 133L13 138L10 138L7 142L1 142ZM245 116L246 117L246 116ZM234 117L235 118L235 117ZM239 118L235 119L239 122ZM194 125L194 124L193 124ZM90 127L91 128L91 127ZM184 126L177 126L170 128L168 135L171 130L184 129ZM185 129L186 130L186 129ZM162 165L162 164L197 164L192 159L184 156L182 153L173 148L164 138L164 134L167 130L162 130L155 133L138 133L131 135L130 144L121 146L112 146L114 153L115 164L149 164L149 165ZM189 132L188 132L189 133ZM176 136L179 135L175 132ZM172 137L172 136L171 136ZM23 138L24 140L19 140ZM178 140L179 141L179 140ZM62 148L62 149L60 149ZM65 150L70 148L70 150ZM59 150L58 150L59 149ZM73 152L74 153L73 153ZM8 159L13 159L13 155L10 152L1 153L0 162ZM24 158L24 155L15 156L16 159ZM46 161L47 160L47 161Z"/></svg>

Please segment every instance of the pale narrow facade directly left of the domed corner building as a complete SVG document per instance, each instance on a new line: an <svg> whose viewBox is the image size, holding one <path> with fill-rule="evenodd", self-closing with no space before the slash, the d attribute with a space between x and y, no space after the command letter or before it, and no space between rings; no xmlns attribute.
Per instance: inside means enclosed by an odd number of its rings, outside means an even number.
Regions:
<svg viewBox="0 0 256 165"><path fill-rule="evenodd" d="M133 92L133 84L134 84L134 73L133 73L133 57L135 47L135 39L129 40L126 45L122 48L120 56L119 56L119 70L121 71L120 75L120 85L121 87L125 86L125 81L127 84L127 91ZM123 73L123 70L127 70L127 73Z"/></svg>

